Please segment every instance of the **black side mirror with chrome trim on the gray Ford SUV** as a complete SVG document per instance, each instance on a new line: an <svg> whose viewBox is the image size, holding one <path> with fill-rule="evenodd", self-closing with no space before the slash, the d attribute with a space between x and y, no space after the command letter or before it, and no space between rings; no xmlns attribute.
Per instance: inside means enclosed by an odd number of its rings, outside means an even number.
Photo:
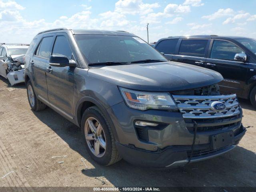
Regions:
<svg viewBox="0 0 256 192"><path fill-rule="evenodd" d="M54 66L54 67L66 67L66 66L75 67L76 66L76 62L74 60L69 61L66 56L55 56L55 55L50 56L49 64L50 66Z"/></svg>

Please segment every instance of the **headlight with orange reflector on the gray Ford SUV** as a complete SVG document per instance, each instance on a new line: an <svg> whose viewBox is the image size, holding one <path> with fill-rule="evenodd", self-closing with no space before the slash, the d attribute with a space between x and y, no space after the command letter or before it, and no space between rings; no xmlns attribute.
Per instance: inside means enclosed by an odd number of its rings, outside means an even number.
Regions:
<svg viewBox="0 0 256 192"><path fill-rule="evenodd" d="M147 109L162 109L172 110L177 109L175 102L169 93L162 92L143 92L135 91L120 87L124 101L130 108L138 110Z"/></svg>

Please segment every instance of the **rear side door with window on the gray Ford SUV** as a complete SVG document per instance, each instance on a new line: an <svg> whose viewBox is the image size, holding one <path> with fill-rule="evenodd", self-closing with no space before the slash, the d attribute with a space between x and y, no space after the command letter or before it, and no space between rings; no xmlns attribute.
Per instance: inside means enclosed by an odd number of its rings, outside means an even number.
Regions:
<svg viewBox="0 0 256 192"><path fill-rule="evenodd" d="M46 64L52 52L53 35L44 36L33 54L30 65L34 75L34 90L38 94L38 98L48 101L47 85L46 85Z"/></svg>

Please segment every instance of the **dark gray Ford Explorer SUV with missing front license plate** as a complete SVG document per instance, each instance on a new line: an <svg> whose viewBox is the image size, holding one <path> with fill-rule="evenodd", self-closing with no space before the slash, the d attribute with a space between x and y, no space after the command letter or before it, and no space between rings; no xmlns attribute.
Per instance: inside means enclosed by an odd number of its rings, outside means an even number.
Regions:
<svg viewBox="0 0 256 192"><path fill-rule="evenodd" d="M246 132L236 95L219 93L218 72L168 62L128 32L44 31L25 61L32 110L47 105L80 126L105 166L121 158L181 166L232 150Z"/></svg>

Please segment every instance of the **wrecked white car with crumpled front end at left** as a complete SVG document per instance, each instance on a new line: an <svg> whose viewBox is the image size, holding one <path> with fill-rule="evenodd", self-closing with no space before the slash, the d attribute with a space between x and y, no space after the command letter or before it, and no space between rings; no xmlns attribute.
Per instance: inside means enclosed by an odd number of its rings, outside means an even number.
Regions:
<svg viewBox="0 0 256 192"><path fill-rule="evenodd" d="M24 56L28 44L0 44L0 75L11 85L25 82Z"/></svg>

